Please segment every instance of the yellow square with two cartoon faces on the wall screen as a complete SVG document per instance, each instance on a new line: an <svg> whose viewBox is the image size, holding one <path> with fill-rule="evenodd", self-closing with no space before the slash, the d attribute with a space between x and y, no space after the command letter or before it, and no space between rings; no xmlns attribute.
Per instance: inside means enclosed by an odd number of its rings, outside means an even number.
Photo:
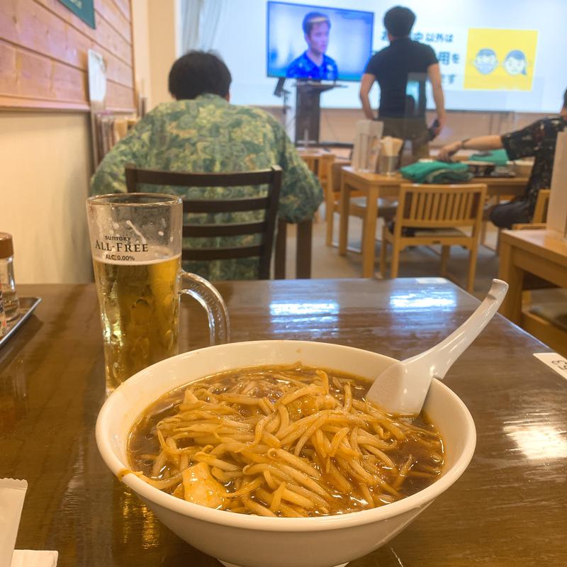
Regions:
<svg viewBox="0 0 567 567"><path fill-rule="evenodd" d="M464 88L531 91L536 49L537 30L469 29Z"/></svg>

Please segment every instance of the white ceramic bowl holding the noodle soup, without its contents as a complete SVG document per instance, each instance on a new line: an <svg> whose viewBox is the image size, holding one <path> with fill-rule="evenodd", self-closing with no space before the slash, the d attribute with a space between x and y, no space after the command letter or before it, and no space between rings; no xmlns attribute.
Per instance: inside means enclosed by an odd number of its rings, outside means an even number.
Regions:
<svg viewBox="0 0 567 567"><path fill-rule="evenodd" d="M296 361L371 379L393 359L337 344L300 341L241 342L179 354L138 372L106 400L96 422L99 451L118 475L129 468L126 442L133 422L161 395L220 371ZM181 539L225 564L337 566L364 556L393 538L447 490L471 461L476 431L464 403L447 386L434 380L425 411L442 433L447 448L442 477L415 495L374 510L314 518L240 515L185 502L133 474L124 476L123 482Z"/></svg>

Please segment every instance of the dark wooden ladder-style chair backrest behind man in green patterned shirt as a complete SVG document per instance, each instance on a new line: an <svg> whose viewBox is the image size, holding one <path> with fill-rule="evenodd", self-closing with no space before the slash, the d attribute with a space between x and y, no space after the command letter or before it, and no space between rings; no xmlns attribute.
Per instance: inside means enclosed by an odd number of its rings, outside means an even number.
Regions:
<svg viewBox="0 0 567 567"><path fill-rule="evenodd" d="M125 167L126 188L134 193L140 184L181 186L181 187L239 187L267 186L266 196L244 198L183 199L184 213L242 213L264 211L262 220L244 223L191 224L184 215L183 236L191 238L259 236L259 244L233 245L223 247L184 247L184 260L225 260L258 257L259 279L269 279L271 250L274 244L274 230L281 189L281 167L261 169L252 172L233 173L190 173L164 172L157 169Z"/></svg>

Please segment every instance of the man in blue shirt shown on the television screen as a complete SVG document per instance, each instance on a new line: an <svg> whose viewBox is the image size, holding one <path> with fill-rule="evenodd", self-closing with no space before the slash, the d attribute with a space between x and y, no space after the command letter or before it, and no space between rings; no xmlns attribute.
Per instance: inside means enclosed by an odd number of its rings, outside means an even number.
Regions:
<svg viewBox="0 0 567 567"><path fill-rule="evenodd" d="M331 22L324 13L310 12L303 18L303 33L308 49L289 64L286 77L315 81L337 80L337 64L325 55L330 29Z"/></svg>

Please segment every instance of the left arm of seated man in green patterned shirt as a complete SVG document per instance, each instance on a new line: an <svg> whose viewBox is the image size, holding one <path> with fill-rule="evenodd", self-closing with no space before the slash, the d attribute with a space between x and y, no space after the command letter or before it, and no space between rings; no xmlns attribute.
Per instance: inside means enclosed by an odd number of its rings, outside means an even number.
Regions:
<svg viewBox="0 0 567 567"><path fill-rule="evenodd" d="M150 115L140 120L135 128L104 156L91 178L91 195L126 193L124 167L126 164L135 164L137 167L145 165L150 120Z"/></svg>

